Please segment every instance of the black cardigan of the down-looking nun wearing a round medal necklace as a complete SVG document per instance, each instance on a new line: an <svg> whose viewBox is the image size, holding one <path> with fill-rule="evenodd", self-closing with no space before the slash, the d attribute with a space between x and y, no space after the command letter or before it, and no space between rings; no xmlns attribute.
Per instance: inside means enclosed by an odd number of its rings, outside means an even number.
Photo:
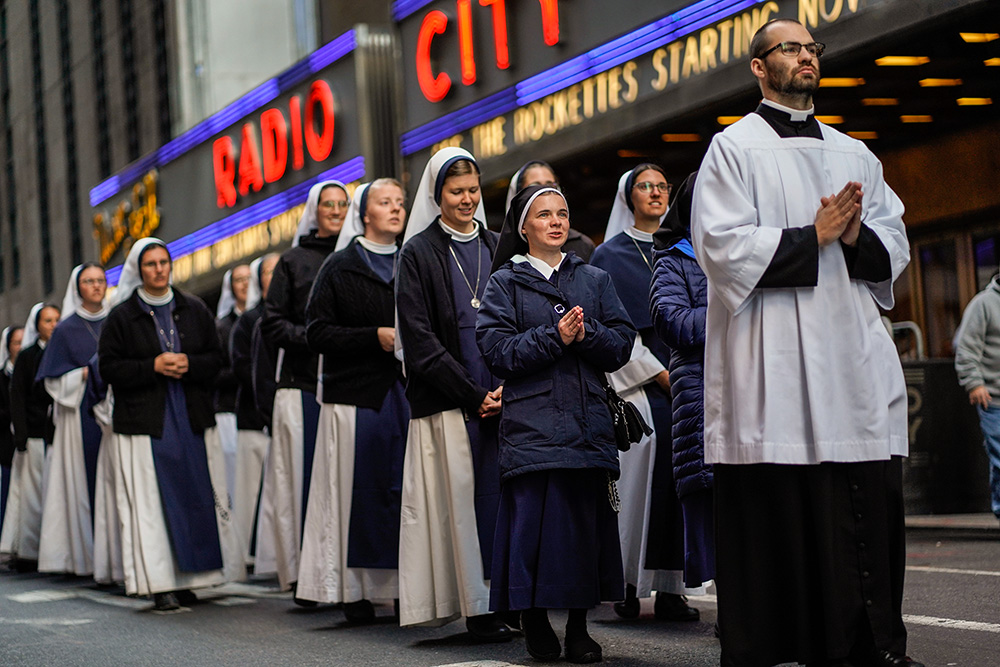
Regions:
<svg viewBox="0 0 1000 667"><path fill-rule="evenodd" d="M479 233L492 256L499 235L482 225ZM462 364L449 240L435 220L400 251L397 335L403 342L406 397L414 419L455 408L474 415L492 389L480 386Z"/></svg>

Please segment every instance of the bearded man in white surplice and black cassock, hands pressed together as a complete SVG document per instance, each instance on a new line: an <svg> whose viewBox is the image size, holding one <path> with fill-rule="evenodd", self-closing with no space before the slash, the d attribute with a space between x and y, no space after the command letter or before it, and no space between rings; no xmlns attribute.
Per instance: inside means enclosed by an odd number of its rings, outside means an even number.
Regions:
<svg viewBox="0 0 1000 667"><path fill-rule="evenodd" d="M793 20L758 31L764 100L715 136L695 186L723 665L918 664L906 393L879 319L909 262L903 205L863 143L814 118L823 50Z"/></svg>

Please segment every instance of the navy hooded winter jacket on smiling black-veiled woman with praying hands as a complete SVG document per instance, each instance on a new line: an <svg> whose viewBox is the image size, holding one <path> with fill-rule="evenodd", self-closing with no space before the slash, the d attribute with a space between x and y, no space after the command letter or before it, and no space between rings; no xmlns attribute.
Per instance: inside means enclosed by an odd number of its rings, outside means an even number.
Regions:
<svg viewBox="0 0 1000 667"><path fill-rule="evenodd" d="M563 345L557 325L582 306L586 334ZM611 277L567 255L555 284L527 262L490 277L476 340L503 378L500 479L538 470L598 468L618 477L611 413L601 374L625 365L635 328Z"/></svg>

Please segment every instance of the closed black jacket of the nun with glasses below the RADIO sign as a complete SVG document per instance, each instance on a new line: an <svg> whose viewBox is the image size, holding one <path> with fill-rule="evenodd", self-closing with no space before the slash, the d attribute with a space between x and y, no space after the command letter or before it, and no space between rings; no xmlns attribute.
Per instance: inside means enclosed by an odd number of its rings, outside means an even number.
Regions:
<svg viewBox="0 0 1000 667"><path fill-rule="evenodd" d="M282 254L274 267L260 328L269 345L285 350L279 389L316 391L319 360L306 340L306 303L319 267L336 245L336 236L317 238L312 231L300 237L297 248Z"/></svg>

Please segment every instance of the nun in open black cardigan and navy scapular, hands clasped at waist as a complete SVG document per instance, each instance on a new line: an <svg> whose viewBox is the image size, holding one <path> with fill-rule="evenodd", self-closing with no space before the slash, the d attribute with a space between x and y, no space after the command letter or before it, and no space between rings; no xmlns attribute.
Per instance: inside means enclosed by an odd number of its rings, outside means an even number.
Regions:
<svg viewBox="0 0 1000 667"><path fill-rule="evenodd" d="M159 239L132 246L98 348L114 392L125 590L159 611L244 574L212 405L215 320L171 286L171 268Z"/></svg>

